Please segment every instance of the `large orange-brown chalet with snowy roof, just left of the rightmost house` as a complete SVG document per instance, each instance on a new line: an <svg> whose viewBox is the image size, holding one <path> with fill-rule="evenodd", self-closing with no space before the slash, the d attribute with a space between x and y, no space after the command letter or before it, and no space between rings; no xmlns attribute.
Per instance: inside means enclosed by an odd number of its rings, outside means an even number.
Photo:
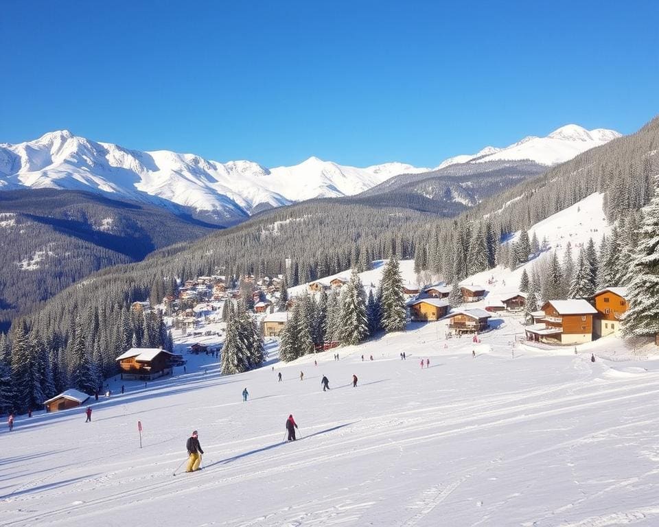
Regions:
<svg viewBox="0 0 659 527"><path fill-rule="evenodd" d="M582 344L592 340L592 320L597 309L587 301L550 300L544 303L542 311L543 318L524 328L527 340L547 344Z"/></svg>

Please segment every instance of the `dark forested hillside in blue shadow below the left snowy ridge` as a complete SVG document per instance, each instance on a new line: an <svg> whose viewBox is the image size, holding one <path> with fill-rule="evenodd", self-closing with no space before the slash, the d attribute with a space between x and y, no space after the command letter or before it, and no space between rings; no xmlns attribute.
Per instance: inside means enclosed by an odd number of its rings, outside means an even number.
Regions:
<svg viewBox="0 0 659 527"><path fill-rule="evenodd" d="M157 207L82 191L0 192L0 331L88 274L212 230Z"/></svg>

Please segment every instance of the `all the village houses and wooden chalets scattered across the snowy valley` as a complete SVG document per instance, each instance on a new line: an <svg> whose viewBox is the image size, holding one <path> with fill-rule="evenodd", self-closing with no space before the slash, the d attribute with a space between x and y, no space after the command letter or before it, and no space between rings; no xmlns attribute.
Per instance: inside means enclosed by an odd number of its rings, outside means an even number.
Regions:
<svg viewBox="0 0 659 527"><path fill-rule="evenodd" d="M277 303L281 277L265 277L256 280L244 277L243 282L253 284L255 314L262 314L261 325L264 336L279 336L288 321L288 311L274 312ZM310 292L340 290L347 279L332 278L329 281L315 281L308 285ZM502 296L496 300L488 298L488 291L481 285L460 286L463 303L481 302L487 298L485 307L463 307L451 309L447 298L451 286L445 283L429 285L418 289L405 285L403 293L408 298L409 318L413 321L433 322L448 320L452 333L482 333L490 327L492 314L496 312L520 312L526 307L527 295L522 292ZM186 281L178 290L178 297L166 296L163 299L165 312L172 317L172 325L183 333L208 335L203 331L207 323L220 322L222 305L231 299L240 298L240 291L230 289L224 277L198 277ZM287 304L290 308L294 298ZM581 344L594 338L618 333L621 316L627 311L627 289L606 288L592 298L552 300L531 313L533 323L524 328L525 338L545 344ZM152 308L148 301L135 302L134 312L148 313ZM204 344L195 343L189 347L190 353L218 353ZM181 355L163 349L132 348L117 357L122 379L148 381L163 375L171 375L173 366L184 364ZM47 411L65 410L84 404L89 395L78 390L67 390L48 401Z"/></svg>

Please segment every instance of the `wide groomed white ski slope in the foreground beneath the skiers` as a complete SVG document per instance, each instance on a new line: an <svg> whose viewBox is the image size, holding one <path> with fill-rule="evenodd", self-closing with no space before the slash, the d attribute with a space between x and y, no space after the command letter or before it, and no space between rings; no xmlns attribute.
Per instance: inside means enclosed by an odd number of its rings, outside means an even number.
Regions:
<svg viewBox="0 0 659 527"><path fill-rule="evenodd" d="M92 423L82 410L20 419L0 435L2 524L659 524L656 361L513 358L506 325L475 347L439 328L338 349L338 362L329 351L318 366L233 377L209 366L96 403ZM283 443L291 412L302 438ZM172 476L193 429L205 469Z"/></svg>

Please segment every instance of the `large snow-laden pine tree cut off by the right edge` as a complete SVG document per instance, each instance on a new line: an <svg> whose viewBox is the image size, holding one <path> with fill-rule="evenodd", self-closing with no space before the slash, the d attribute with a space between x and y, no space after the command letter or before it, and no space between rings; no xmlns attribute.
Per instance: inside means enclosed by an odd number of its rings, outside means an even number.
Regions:
<svg viewBox="0 0 659 527"><path fill-rule="evenodd" d="M659 178L656 178L659 179ZM659 181L654 197L643 209L643 226L634 251L632 282L629 283L629 310L623 318L627 335L659 333Z"/></svg>

